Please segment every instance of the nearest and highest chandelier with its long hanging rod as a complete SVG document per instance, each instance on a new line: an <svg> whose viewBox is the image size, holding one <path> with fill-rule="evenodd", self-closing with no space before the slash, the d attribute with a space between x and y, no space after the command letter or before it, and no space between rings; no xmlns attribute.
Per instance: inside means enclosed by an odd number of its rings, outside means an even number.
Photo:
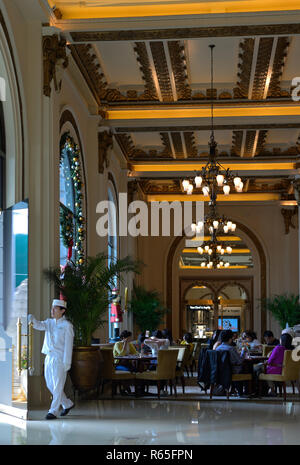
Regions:
<svg viewBox="0 0 300 465"><path fill-rule="evenodd" d="M202 189L205 197L215 199L218 191L222 188L225 195L229 195L232 187L236 192L242 192L244 183L238 174L234 175L229 168L224 168L217 161L217 142L214 136L213 119L213 49L215 45L210 45L211 50L211 135L209 141L208 162L201 171L196 172L194 179L186 178L182 181L182 189L188 195L193 193L194 188Z"/></svg>

